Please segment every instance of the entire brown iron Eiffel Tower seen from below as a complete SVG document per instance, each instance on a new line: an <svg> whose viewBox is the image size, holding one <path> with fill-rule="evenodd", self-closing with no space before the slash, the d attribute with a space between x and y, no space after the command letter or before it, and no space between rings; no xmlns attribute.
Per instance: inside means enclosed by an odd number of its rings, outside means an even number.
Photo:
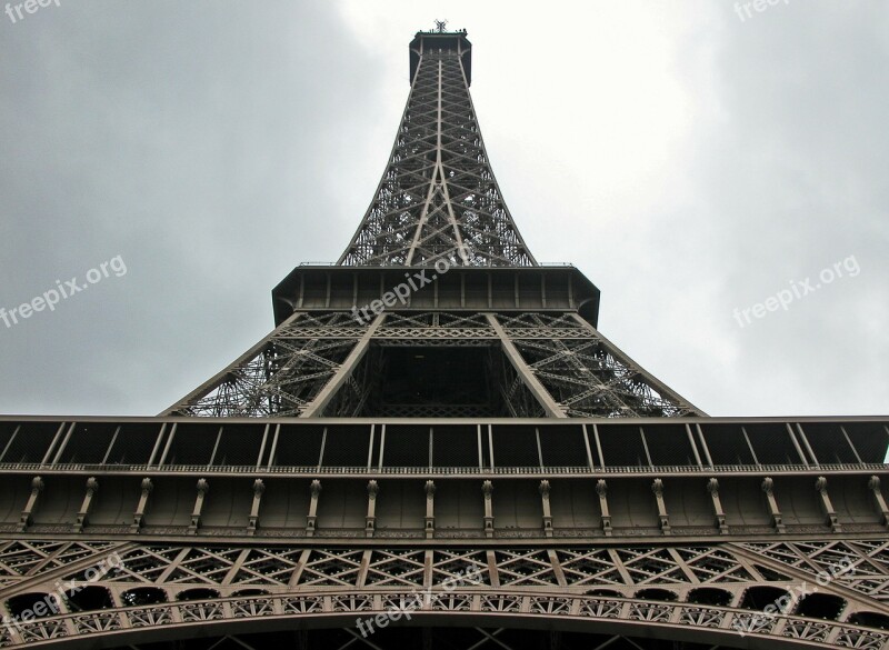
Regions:
<svg viewBox="0 0 889 650"><path fill-rule="evenodd" d="M466 31L274 330L154 418L0 418L0 648L889 648L889 418L711 418L491 171ZM288 646L289 644L289 646Z"/></svg>

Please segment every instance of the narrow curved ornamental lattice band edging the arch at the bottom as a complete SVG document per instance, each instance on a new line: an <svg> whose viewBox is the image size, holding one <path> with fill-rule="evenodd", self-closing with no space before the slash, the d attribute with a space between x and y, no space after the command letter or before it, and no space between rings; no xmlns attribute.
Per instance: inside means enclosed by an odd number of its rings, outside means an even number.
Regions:
<svg viewBox="0 0 889 650"><path fill-rule="evenodd" d="M451 614L465 624L472 619L492 618L518 620L527 617L549 619L549 626L583 631L580 621L610 622L620 633L659 639L696 641L696 632L706 632L701 642L750 647L786 646L787 643L820 647L832 646L863 650L881 650L889 643L889 633L858 623L808 619L795 614L710 607L687 602L640 601L628 598L602 598L571 593L505 592L483 590L451 590L424 594L398 591L362 590L361 592L260 594L253 597L214 599L178 603L66 613L29 622L10 621L0 630L0 647L43 646L71 641L76 637L114 636L119 642L151 642L154 632L163 627L169 639L170 627L208 628L224 634L226 622L251 621L257 632L262 621L292 619L329 619L328 627L354 624L354 617L370 620L380 613L408 611L422 619L424 614ZM408 617L406 617L407 619ZM396 619L393 619L396 620ZM452 623L453 624L453 623ZM316 627L323 628L316 623ZM590 627L590 630L593 628ZM597 628L598 629L598 628ZM681 632L680 632L681 630ZM189 634L191 632L186 632ZM743 640L745 637L752 637ZM84 642L89 642L83 639Z"/></svg>

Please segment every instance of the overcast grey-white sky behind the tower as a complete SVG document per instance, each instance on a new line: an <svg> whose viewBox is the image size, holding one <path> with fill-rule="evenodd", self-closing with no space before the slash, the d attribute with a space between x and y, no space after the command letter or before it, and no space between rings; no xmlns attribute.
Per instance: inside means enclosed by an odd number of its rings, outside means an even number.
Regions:
<svg viewBox="0 0 889 650"><path fill-rule="evenodd" d="M271 288L348 243L407 46L448 19L507 204L605 336L712 416L889 413L889 3L742 4L13 7L0 307L119 262L0 320L0 412L156 414L262 338Z"/></svg>

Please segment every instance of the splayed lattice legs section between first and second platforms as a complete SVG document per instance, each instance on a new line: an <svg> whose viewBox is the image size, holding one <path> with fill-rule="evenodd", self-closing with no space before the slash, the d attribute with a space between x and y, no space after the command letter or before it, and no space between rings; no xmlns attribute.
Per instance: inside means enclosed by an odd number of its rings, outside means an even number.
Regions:
<svg viewBox="0 0 889 650"><path fill-rule="evenodd" d="M323 409L328 417L543 417L529 390L536 377L569 417L676 417L699 411L573 313L490 314L502 326L522 362L501 351L485 313L387 312L377 329L349 312L300 312L223 372L164 414L204 417L300 416L338 372L341 384ZM367 334L358 362L346 358ZM388 348L481 348L497 412L465 404L389 404L381 410L380 382ZM369 352L369 353L368 353ZM522 367L523 364L523 367ZM457 386L453 387L457 390ZM459 396L449 396L457 399Z"/></svg>

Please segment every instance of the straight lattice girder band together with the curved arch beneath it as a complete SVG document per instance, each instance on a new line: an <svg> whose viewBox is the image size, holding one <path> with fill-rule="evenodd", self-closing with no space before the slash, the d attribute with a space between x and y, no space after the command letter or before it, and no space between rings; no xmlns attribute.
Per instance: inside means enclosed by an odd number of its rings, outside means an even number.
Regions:
<svg viewBox="0 0 889 650"><path fill-rule="evenodd" d="M0 648L889 643L885 541L359 546L14 542Z"/></svg>

